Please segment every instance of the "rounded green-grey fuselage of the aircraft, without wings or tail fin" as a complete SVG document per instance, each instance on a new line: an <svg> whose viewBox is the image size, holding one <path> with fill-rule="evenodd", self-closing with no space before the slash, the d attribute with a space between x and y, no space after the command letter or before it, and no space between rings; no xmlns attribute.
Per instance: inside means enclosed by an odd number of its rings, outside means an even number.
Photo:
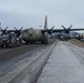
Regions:
<svg viewBox="0 0 84 83"><path fill-rule="evenodd" d="M25 42L36 42L36 41L45 41L48 40L48 33L42 32L40 29L25 29L22 32L22 38Z"/></svg>

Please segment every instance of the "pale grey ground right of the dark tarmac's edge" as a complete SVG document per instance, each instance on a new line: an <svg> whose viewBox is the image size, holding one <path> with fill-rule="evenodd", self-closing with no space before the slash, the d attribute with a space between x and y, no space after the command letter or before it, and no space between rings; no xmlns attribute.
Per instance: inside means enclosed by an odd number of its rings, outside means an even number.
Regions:
<svg viewBox="0 0 84 83"><path fill-rule="evenodd" d="M84 83L84 48L57 42L38 83Z"/></svg>

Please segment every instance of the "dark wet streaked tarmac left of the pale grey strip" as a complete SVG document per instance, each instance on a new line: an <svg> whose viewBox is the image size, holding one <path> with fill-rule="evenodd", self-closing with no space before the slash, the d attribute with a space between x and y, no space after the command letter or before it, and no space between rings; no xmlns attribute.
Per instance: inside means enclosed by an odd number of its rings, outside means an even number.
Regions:
<svg viewBox="0 0 84 83"><path fill-rule="evenodd" d="M32 80L34 82L34 77L38 79L35 75L38 75L38 72L41 72L54 46L54 43L50 42L49 44L40 43L1 49L0 83L24 83L30 72L29 81L30 83Z"/></svg>

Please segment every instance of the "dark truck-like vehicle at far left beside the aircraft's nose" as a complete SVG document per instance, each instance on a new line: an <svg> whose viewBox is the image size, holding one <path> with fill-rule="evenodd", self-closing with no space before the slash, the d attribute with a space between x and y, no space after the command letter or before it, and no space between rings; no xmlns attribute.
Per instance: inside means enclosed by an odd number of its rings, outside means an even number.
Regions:
<svg viewBox="0 0 84 83"><path fill-rule="evenodd" d="M14 32L9 34L0 34L0 46L19 46L22 42L21 37L17 37Z"/></svg>

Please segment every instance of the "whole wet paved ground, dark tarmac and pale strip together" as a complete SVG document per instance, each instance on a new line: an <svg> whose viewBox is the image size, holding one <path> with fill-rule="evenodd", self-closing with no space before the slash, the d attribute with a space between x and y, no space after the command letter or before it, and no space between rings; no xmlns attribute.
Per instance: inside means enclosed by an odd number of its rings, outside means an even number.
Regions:
<svg viewBox="0 0 84 83"><path fill-rule="evenodd" d="M50 44L33 44L39 45L34 51L31 45L1 49L0 55L8 53L11 58L0 61L0 82L8 83L10 76L10 83L84 83L84 48L69 41Z"/></svg>

